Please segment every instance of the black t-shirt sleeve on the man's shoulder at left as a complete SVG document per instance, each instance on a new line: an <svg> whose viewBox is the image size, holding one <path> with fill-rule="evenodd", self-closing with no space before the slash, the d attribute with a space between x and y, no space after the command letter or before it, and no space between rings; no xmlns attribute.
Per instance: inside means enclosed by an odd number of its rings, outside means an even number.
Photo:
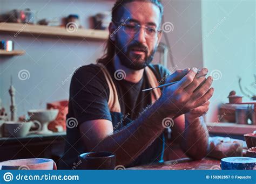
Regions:
<svg viewBox="0 0 256 184"><path fill-rule="evenodd" d="M107 104L109 87L104 74L95 65L83 66L73 75L70 84L69 107L81 124L93 119L112 121Z"/></svg>

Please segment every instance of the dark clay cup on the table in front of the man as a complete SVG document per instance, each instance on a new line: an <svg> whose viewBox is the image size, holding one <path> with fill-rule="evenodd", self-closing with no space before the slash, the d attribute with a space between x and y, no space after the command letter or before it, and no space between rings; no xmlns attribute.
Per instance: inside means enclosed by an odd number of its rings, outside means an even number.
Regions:
<svg viewBox="0 0 256 184"><path fill-rule="evenodd" d="M109 170L116 166L116 155L111 152L89 152L78 156L78 169Z"/></svg>

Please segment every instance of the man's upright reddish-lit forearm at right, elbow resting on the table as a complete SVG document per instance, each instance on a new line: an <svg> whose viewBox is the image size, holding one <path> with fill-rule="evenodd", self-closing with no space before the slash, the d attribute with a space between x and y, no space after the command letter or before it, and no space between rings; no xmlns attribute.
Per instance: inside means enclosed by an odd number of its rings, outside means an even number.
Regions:
<svg viewBox="0 0 256 184"><path fill-rule="evenodd" d="M181 148L193 159L202 159L207 154L208 130L204 118L187 119Z"/></svg>

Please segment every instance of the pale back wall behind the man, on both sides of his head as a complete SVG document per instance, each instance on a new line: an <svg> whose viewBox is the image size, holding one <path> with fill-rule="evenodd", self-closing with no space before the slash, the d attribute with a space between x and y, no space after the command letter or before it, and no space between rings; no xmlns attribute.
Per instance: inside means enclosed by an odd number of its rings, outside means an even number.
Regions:
<svg viewBox="0 0 256 184"><path fill-rule="evenodd" d="M30 8L37 12L38 19L60 19L77 13L86 28L90 27L90 16L100 11L110 11L113 5L113 1L70 3L68 0L1 0L0 3L1 13ZM171 43L174 65L178 68L203 66L200 6L200 1L164 1L165 22L172 22L174 25L174 30L166 34ZM62 81L79 65L95 62L103 53L102 41L34 38L23 35L14 38L12 34L2 33L0 39L14 39L16 49L26 50L23 56L0 58L0 97L4 107L9 110L8 88L12 76L17 90L18 116L25 115L29 109L45 108L47 102L68 99L70 80L64 85ZM18 72L22 69L29 71L28 80L18 79Z"/></svg>

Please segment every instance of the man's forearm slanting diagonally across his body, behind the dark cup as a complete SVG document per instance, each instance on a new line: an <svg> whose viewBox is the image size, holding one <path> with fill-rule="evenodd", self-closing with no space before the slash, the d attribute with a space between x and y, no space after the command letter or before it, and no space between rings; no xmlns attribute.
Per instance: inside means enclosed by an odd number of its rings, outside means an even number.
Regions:
<svg viewBox="0 0 256 184"><path fill-rule="evenodd" d="M116 153L118 165L129 165L163 132L160 102L156 101L124 129L104 138L93 151Z"/></svg>

